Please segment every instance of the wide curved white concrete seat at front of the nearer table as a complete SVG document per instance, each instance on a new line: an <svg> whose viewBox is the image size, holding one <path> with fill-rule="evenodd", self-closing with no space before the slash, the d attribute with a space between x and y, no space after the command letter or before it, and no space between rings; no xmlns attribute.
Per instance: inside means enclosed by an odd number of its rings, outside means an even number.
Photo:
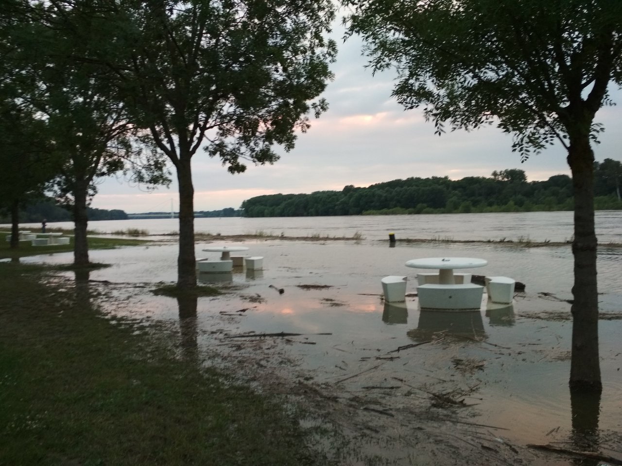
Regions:
<svg viewBox="0 0 622 466"><path fill-rule="evenodd" d="M480 309L484 287L475 283L417 286L419 306L422 309Z"/></svg>

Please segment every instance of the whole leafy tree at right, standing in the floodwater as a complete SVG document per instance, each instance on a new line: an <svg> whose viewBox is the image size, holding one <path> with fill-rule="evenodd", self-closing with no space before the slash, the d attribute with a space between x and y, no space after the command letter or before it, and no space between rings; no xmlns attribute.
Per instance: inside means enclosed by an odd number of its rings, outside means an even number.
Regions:
<svg viewBox="0 0 622 466"><path fill-rule="evenodd" d="M524 162L558 141L575 203L570 386L601 390L594 230L598 109L622 83L617 0L342 0L374 71L396 68L393 95L441 134L496 123Z"/></svg>

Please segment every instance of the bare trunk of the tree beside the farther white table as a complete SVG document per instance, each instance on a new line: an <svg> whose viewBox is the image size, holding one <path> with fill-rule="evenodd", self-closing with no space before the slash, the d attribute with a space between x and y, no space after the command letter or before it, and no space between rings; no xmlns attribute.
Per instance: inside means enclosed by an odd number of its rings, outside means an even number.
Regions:
<svg viewBox="0 0 622 466"><path fill-rule="evenodd" d="M194 252L194 187L190 157L180 157L177 164L179 183L179 257L177 257L177 288L190 290L197 286Z"/></svg>

